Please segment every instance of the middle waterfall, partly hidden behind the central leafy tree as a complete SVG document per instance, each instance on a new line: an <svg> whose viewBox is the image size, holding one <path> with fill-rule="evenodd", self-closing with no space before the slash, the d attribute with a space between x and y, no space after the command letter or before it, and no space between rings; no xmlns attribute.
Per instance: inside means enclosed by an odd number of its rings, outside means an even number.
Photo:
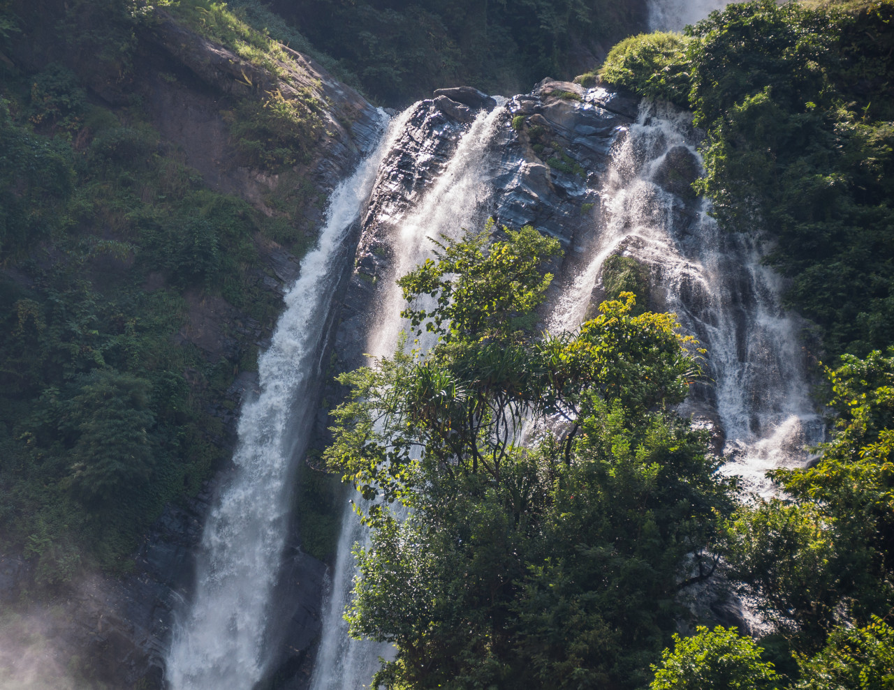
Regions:
<svg viewBox="0 0 894 690"><path fill-rule="evenodd" d="M491 192L488 144L503 115L499 107L493 112L479 113L431 188L424 189L417 200L410 198L409 205L403 209L389 210L379 217L367 219L367 231L378 226L375 232L387 234L395 258L377 295L367 353L388 356L394 352L402 328L400 313L403 306L401 290L394 281L433 255L434 245L428 238L438 238L442 234L458 237L463 228L480 227ZM377 184L385 183L388 171L384 170L382 176ZM426 345L434 343L419 344L423 348ZM342 618L350 602L356 574L351 549L355 544L367 545L368 540L367 528L360 524L349 505L342 517L342 533L311 690L367 687L378 669L378 658L390 656L390 645L350 639L348 625Z"/></svg>

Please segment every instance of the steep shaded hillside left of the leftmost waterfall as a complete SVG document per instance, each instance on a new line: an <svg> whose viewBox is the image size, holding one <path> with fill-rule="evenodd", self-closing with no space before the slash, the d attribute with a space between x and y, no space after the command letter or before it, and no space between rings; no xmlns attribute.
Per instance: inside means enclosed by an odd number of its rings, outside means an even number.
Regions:
<svg viewBox="0 0 894 690"><path fill-rule="evenodd" d="M16 656L80 659L53 683L148 672L257 352L378 119L223 5L0 4L0 601L30 612L3 621ZM325 557L334 487L304 486Z"/></svg>

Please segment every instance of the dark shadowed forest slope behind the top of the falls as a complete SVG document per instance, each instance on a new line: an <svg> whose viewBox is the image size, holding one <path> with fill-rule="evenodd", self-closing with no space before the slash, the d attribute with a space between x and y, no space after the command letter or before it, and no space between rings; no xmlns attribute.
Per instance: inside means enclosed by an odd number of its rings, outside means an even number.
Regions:
<svg viewBox="0 0 894 690"><path fill-rule="evenodd" d="M611 0L273 0L319 49L385 104L440 87L526 92L569 79L645 27L645 2Z"/></svg>

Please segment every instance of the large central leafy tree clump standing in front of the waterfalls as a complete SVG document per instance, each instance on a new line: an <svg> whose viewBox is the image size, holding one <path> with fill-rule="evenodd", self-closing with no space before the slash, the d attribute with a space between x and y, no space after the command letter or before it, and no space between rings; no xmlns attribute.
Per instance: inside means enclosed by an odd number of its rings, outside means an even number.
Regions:
<svg viewBox="0 0 894 690"><path fill-rule="evenodd" d="M397 645L387 687L641 685L731 507L706 437L667 411L698 375L695 344L669 314L634 316L628 293L536 336L525 317L558 248L503 237L447 240L401 278L430 353L401 344L341 378L326 458L380 499L351 632ZM545 418L566 423L519 445L522 420Z"/></svg>

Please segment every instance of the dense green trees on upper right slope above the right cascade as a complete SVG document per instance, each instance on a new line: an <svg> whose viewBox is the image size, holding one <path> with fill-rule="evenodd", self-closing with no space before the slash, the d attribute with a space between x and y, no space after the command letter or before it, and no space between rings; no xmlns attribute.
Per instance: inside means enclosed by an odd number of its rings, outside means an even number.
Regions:
<svg viewBox="0 0 894 690"><path fill-rule="evenodd" d="M833 356L894 342L892 20L890 2L737 4L628 38L600 71L694 113L698 191L728 229L767 230Z"/></svg>

